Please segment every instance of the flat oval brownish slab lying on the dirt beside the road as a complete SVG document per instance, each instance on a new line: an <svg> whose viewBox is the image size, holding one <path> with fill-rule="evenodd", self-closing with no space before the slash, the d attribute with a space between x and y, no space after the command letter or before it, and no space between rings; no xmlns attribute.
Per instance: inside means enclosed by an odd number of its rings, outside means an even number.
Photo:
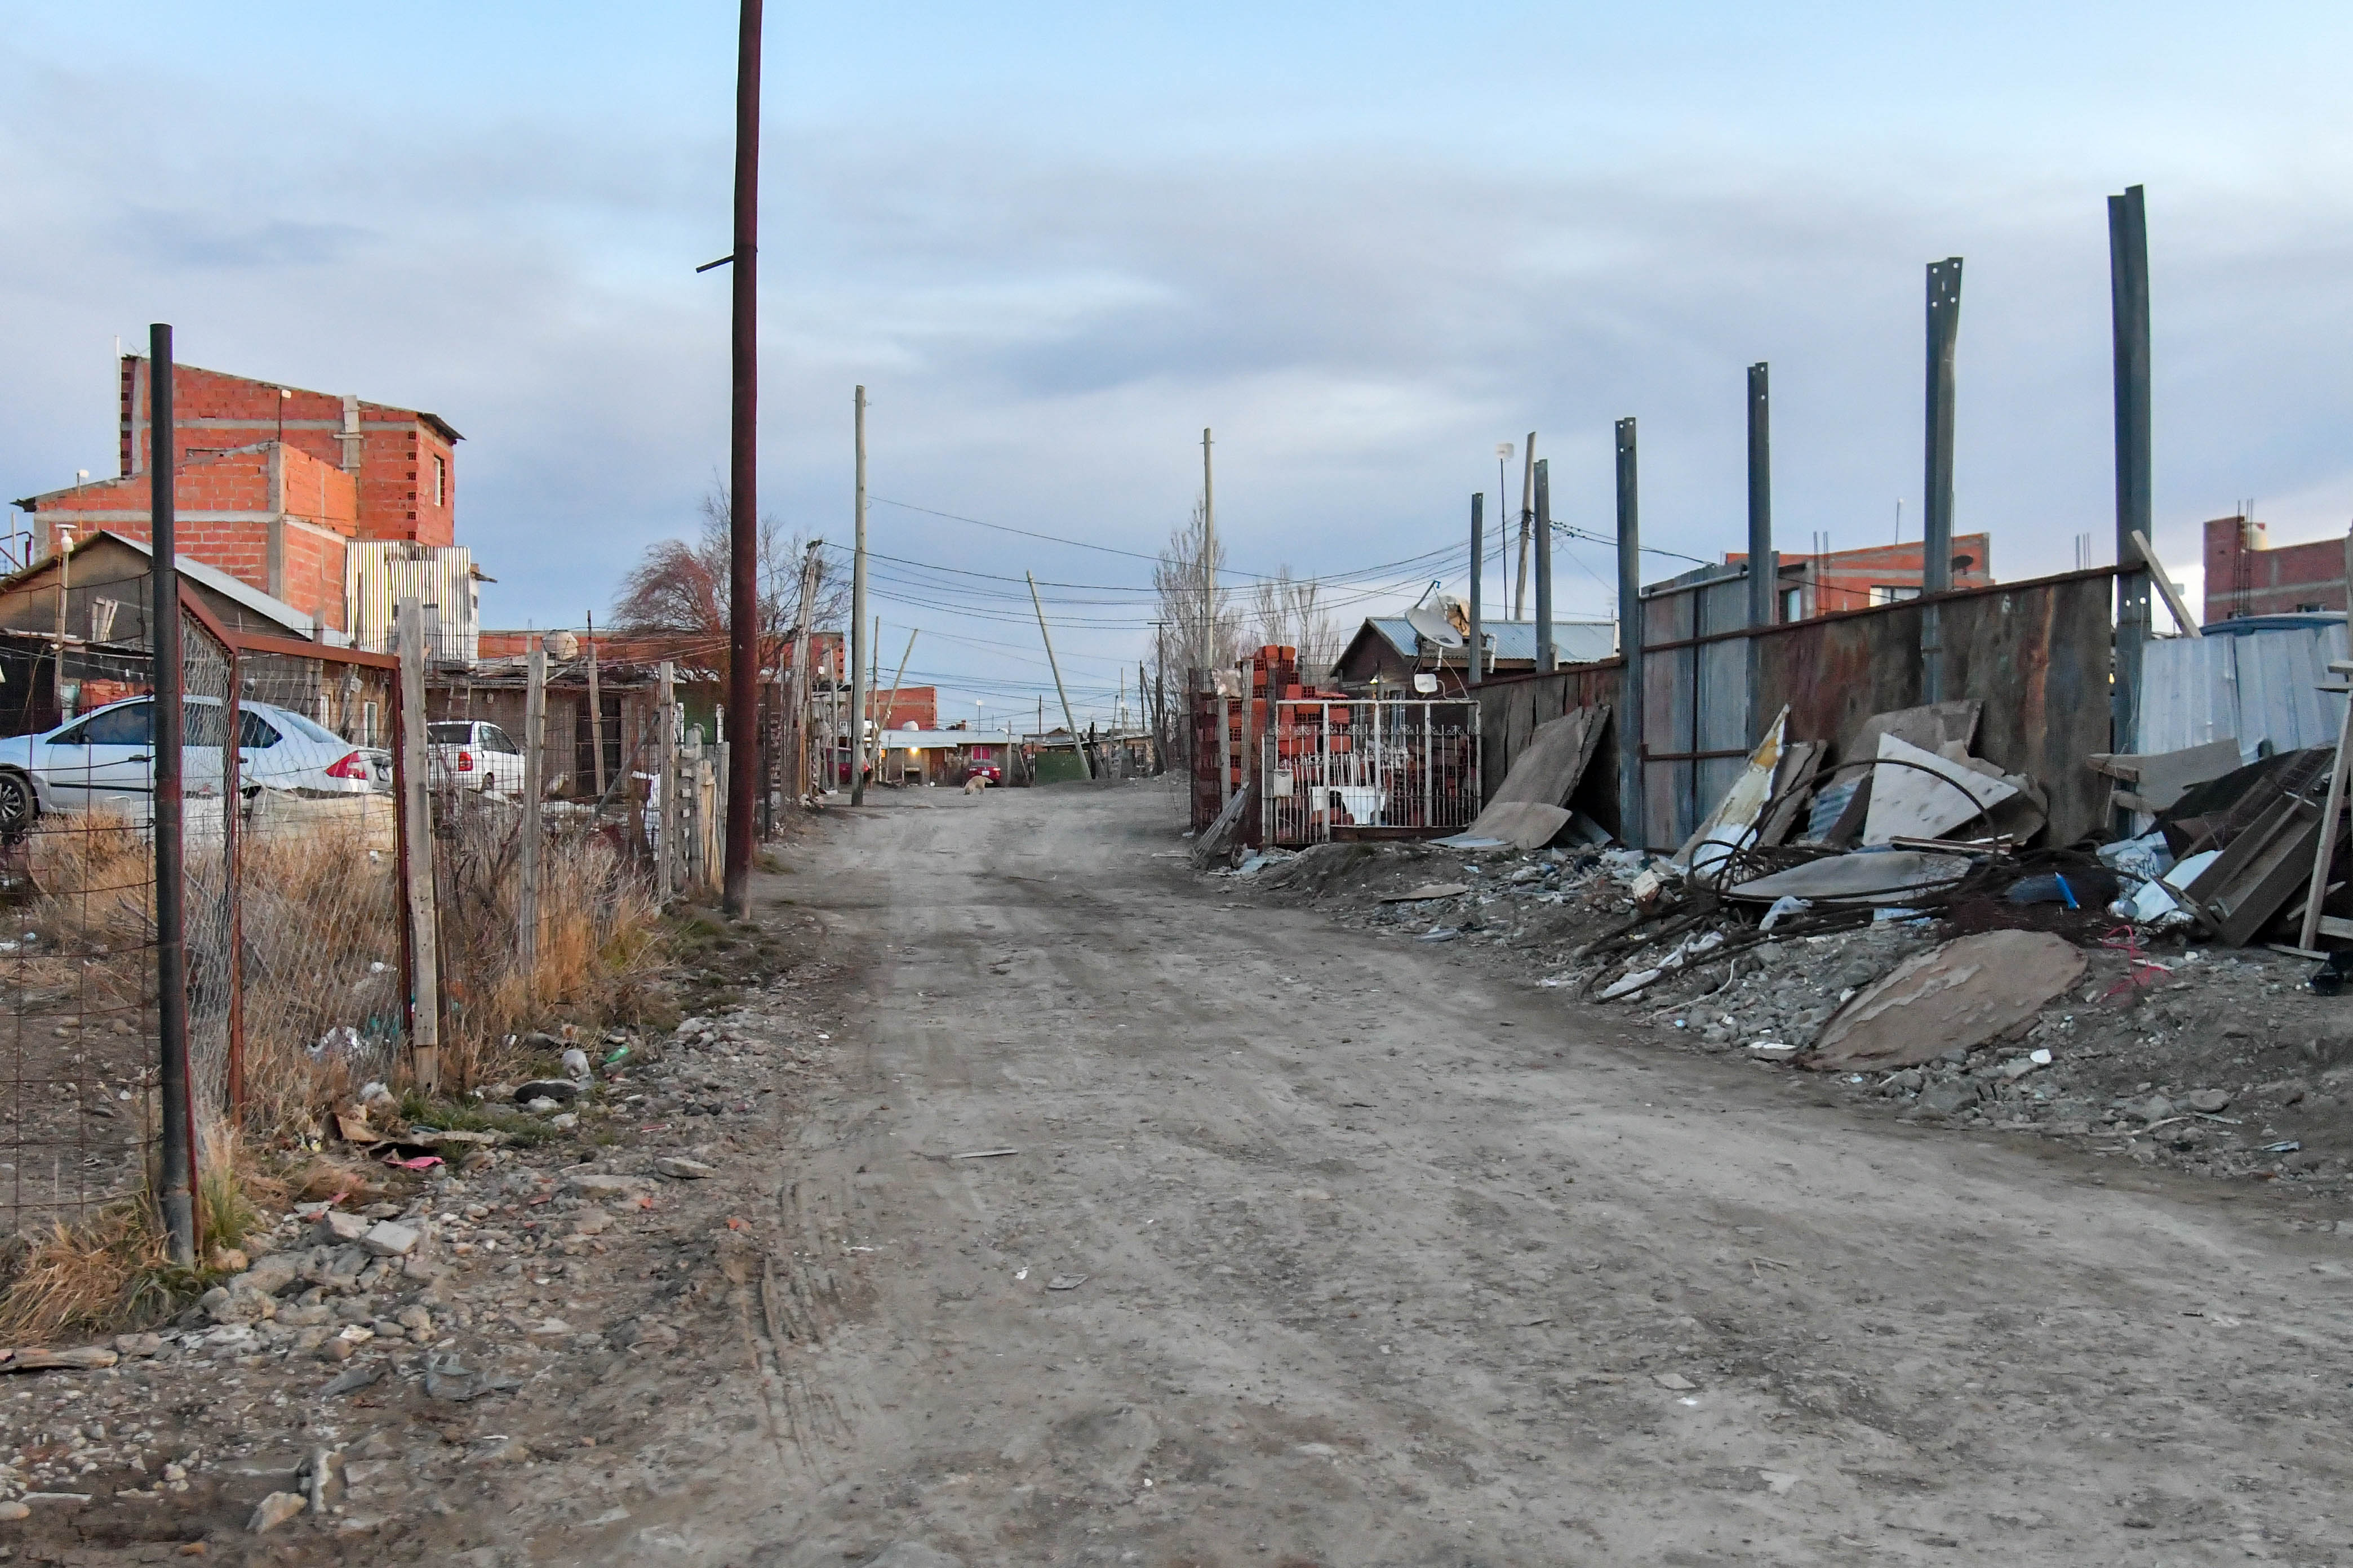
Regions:
<svg viewBox="0 0 2353 1568"><path fill-rule="evenodd" d="M1918 1067L2033 1018L2082 978L2082 952L2049 931L1986 931L1915 952L1838 1009L1807 1067Z"/></svg>

